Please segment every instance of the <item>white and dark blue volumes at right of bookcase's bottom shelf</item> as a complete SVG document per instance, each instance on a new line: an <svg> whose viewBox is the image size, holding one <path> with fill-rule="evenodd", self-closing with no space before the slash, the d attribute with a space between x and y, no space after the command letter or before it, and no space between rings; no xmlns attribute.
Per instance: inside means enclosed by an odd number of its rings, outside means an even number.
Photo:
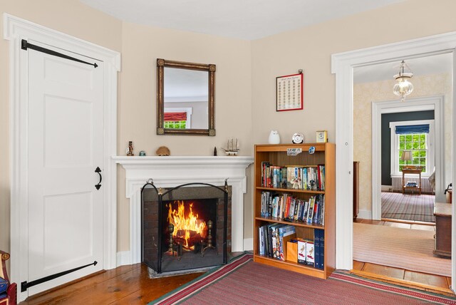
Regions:
<svg viewBox="0 0 456 305"><path fill-rule="evenodd" d="M296 242L298 245L298 263L316 267L325 268L325 232L323 229L314 229L314 240L291 239L291 243Z"/></svg>

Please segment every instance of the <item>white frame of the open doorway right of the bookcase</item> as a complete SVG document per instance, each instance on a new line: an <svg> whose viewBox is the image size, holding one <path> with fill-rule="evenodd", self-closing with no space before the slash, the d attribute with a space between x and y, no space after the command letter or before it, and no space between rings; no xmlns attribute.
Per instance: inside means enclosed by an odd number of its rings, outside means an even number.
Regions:
<svg viewBox="0 0 456 305"><path fill-rule="evenodd" d="M452 111L453 118L456 118L456 32L335 53L331 56L331 73L336 74L336 268L338 269L353 269L353 68L442 53L452 53L453 56ZM452 143L456 143L456 124L452 126ZM453 150L453 164L455 161L456 150ZM452 177L456 177L455 166L452 169ZM454 199L453 202L455 202ZM456 205L452 205L452 208L452 213L456 214ZM456 275L455 240L456 217L453 217L453 279Z"/></svg>

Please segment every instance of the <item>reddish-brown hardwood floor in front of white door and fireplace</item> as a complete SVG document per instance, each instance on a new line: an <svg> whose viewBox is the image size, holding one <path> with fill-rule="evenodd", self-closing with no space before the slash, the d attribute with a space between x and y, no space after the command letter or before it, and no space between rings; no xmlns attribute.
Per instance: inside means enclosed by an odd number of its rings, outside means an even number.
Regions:
<svg viewBox="0 0 456 305"><path fill-rule="evenodd" d="M20 304L147 304L202 273L149 279L142 264L107 270L82 281L31 296Z"/></svg>

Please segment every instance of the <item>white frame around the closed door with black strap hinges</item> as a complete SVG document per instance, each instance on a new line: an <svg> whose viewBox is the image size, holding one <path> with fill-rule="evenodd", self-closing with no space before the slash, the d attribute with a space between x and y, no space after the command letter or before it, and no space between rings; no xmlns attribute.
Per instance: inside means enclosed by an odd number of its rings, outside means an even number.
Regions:
<svg viewBox="0 0 456 305"><path fill-rule="evenodd" d="M28 280L27 96L28 56L21 40L28 39L95 58L104 63L103 90L103 269L117 267L117 73L120 53L4 13L4 39L9 41L9 155L11 183L11 281ZM19 301L28 292L18 291Z"/></svg>

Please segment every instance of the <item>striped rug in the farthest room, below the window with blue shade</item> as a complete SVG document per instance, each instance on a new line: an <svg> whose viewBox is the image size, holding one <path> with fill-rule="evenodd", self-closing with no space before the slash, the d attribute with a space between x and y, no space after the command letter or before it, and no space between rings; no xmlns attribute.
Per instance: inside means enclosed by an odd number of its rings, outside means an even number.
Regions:
<svg viewBox="0 0 456 305"><path fill-rule="evenodd" d="M435 222L434 195L382 192L382 218Z"/></svg>

